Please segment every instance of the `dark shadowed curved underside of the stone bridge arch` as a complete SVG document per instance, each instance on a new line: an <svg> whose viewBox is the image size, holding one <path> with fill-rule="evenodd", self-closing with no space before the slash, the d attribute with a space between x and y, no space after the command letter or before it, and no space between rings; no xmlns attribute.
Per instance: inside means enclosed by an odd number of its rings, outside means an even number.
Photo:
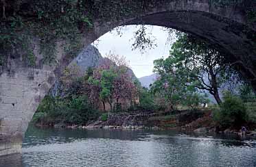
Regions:
<svg viewBox="0 0 256 167"><path fill-rule="evenodd" d="M256 31L242 23L201 11L160 12L126 23L168 27L193 34L226 55L256 90Z"/></svg>

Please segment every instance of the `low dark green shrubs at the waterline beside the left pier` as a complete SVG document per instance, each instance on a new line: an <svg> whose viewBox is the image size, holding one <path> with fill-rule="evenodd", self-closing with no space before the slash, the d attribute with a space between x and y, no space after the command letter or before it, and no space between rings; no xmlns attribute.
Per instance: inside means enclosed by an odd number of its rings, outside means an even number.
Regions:
<svg viewBox="0 0 256 167"><path fill-rule="evenodd" d="M34 123L46 125L65 123L68 125L85 125L95 120L99 112L94 110L85 96L74 96L65 99L45 97L33 117Z"/></svg>

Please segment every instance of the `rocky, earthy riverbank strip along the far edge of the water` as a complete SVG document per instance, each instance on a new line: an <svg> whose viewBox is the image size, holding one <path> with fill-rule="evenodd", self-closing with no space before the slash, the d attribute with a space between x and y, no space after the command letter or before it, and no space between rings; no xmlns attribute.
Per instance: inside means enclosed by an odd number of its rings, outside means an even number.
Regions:
<svg viewBox="0 0 256 167"><path fill-rule="evenodd" d="M104 117L104 118L103 118ZM250 133L255 133L255 125L249 125ZM86 125L67 125L64 123L42 125L36 127L54 127L67 129L152 129L178 131L194 131L196 133L236 133L239 129L220 129L214 122L211 110L183 110L172 112L119 112L105 113L97 120Z"/></svg>

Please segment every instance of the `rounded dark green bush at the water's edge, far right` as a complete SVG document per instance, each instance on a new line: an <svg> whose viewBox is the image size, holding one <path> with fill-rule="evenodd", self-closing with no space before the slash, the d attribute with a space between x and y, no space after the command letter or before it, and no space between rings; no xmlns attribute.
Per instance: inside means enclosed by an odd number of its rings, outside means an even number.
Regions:
<svg viewBox="0 0 256 167"><path fill-rule="evenodd" d="M220 110L213 113L213 118L222 128L240 128L241 125L246 123L248 114L241 99L231 93L225 93L224 102L220 105Z"/></svg>

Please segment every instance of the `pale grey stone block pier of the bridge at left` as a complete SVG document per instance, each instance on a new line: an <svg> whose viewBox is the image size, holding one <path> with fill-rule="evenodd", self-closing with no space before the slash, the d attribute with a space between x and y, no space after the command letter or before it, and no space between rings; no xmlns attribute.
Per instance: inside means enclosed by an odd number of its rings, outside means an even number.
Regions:
<svg viewBox="0 0 256 167"><path fill-rule="evenodd" d="M16 68L11 75L1 75L0 155L20 150L27 124L38 103L51 88L49 79L54 81L54 73L44 69Z"/></svg>

